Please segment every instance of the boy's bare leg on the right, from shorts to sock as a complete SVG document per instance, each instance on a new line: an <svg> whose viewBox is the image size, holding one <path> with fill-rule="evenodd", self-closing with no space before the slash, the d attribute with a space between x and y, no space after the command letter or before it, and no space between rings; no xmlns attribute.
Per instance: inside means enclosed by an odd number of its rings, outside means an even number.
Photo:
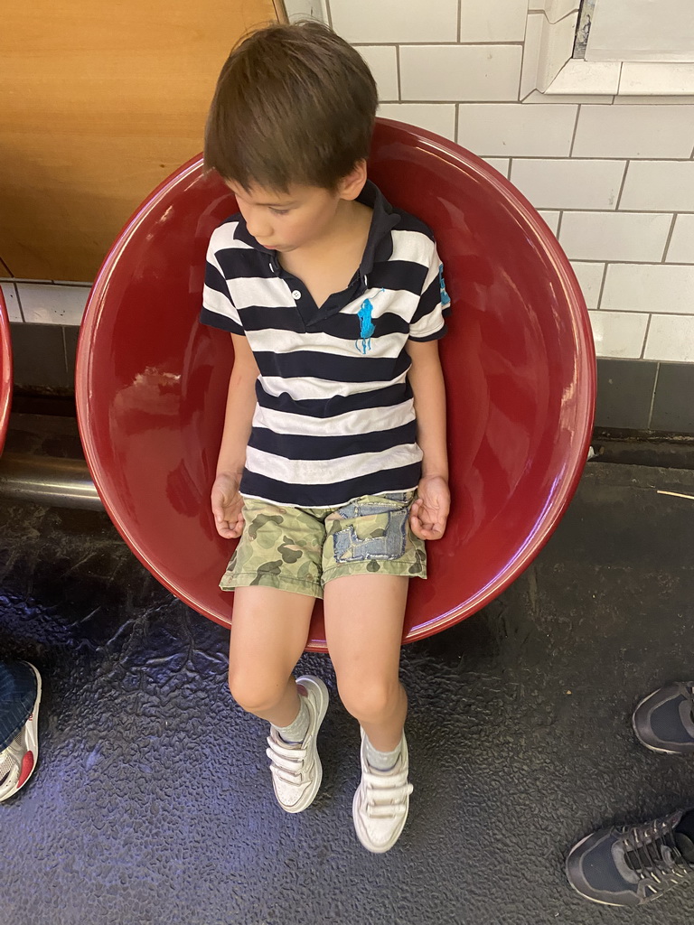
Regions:
<svg viewBox="0 0 694 925"><path fill-rule="evenodd" d="M324 589L328 650L342 703L382 752L399 746L407 713L399 666L408 582L403 575L343 575Z"/></svg>

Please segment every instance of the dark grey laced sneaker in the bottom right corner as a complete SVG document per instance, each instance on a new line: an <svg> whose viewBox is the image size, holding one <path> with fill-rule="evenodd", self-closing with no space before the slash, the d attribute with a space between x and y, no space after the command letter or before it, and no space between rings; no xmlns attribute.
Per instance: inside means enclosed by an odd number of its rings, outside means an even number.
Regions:
<svg viewBox="0 0 694 925"><path fill-rule="evenodd" d="M694 842L675 832L689 811L589 835L566 858L569 882L594 903L633 907L650 902L677 883L694 881ZM683 851L691 860L683 857Z"/></svg>

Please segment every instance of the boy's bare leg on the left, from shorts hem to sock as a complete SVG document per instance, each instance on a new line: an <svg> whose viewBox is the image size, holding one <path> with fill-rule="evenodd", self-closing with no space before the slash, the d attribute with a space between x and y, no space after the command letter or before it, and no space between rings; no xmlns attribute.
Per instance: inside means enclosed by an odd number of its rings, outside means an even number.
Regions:
<svg viewBox="0 0 694 925"><path fill-rule="evenodd" d="M243 709L288 726L299 712L292 673L308 638L314 598L274 587L237 587L229 643L229 689Z"/></svg>

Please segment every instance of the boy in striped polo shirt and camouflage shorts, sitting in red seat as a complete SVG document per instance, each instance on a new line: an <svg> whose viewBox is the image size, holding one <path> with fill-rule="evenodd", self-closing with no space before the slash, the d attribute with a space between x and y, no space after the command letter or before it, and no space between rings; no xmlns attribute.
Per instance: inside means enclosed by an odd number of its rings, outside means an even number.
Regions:
<svg viewBox="0 0 694 925"><path fill-rule="evenodd" d="M294 679L314 598L346 709L362 729L357 836L395 844L409 808L398 678L409 576L449 511L437 339L445 291L428 228L366 179L377 107L353 48L316 22L245 39L205 132L240 214L212 236L201 320L235 351L212 488L220 536L241 536L229 687L270 723L279 805L316 796L326 686ZM416 494L416 497L415 497Z"/></svg>

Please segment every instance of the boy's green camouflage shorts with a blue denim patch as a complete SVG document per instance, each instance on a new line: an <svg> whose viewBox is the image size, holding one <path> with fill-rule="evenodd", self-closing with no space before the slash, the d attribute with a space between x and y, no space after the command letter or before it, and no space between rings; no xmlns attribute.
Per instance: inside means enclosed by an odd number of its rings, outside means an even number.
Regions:
<svg viewBox="0 0 694 925"><path fill-rule="evenodd" d="M365 495L339 508L243 501L245 526L219 586L263 585L323 597L341 575L427 577L424 541L410 530L414 491Z"/></svg>

